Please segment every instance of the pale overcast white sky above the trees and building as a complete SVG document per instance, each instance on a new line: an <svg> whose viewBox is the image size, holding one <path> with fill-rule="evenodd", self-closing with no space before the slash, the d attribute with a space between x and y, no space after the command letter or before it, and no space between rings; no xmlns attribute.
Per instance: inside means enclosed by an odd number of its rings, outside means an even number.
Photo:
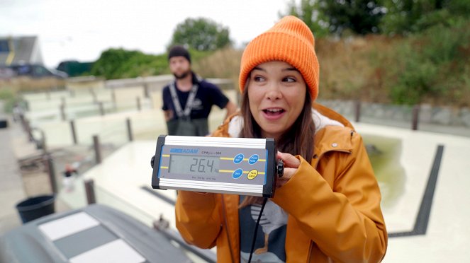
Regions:
<svg viewBox="0 0 470 263"><path fill-rule="evenodd" d="M176 25L210 18L240 47L270 28L289 0L0 0L0 36L37 35L46 66L94 61L110 47L161 54Z"/></svg>

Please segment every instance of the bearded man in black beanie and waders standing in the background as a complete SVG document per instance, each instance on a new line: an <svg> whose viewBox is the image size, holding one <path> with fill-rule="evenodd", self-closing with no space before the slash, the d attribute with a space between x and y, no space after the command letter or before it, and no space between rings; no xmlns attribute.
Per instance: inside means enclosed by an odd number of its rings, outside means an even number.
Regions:
<svg viewBox="0 0 470 263"><path fill-rule="evenodd" d="M237 110L220 88L191 71L191 56L184 47L172 47L168 63L175 77L162 93L162 110L169 135L206 136L209 134L208 116L212 105L225 108L227 116Z"/></svg>

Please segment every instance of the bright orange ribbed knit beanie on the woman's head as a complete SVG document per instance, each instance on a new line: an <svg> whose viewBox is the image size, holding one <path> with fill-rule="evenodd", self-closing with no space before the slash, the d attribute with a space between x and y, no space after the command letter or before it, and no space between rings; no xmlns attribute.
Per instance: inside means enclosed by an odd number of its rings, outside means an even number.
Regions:
<svg viewBox="0 0 470 263"><path fill-rule="evenodd" d="M287 62L301 72L310 97L318 96L319 65L315 39L310 28L295 16L285 16L272 28L255 37L245 48L240 64L240 90L243 92L252 69L264 62Z"/></svg>

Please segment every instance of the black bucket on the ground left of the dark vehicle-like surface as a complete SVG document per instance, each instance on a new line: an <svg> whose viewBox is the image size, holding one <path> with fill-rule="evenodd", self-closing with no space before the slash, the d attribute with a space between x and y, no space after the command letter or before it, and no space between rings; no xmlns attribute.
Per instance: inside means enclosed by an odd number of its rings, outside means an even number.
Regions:
<svg viewBox="0 0 470 263"><path fill-rule="evenodd" d="M20 214L21 221L27 223L41 216L54 214L54 195L40 195L38 197L30 197L25 201L16 204L18 214Z"/></svg>

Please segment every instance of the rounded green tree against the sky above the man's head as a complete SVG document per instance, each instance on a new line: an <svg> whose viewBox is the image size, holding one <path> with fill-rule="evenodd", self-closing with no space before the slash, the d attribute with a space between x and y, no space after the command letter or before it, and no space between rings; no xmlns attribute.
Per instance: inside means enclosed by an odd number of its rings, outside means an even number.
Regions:
<svg viewBox="0 0 470 263"><path fill-rule="evenodd" d="M188 45L199 51L212 51L231 45L228 28L207 18L186 18L174 30L173 45Z"/></svg>

